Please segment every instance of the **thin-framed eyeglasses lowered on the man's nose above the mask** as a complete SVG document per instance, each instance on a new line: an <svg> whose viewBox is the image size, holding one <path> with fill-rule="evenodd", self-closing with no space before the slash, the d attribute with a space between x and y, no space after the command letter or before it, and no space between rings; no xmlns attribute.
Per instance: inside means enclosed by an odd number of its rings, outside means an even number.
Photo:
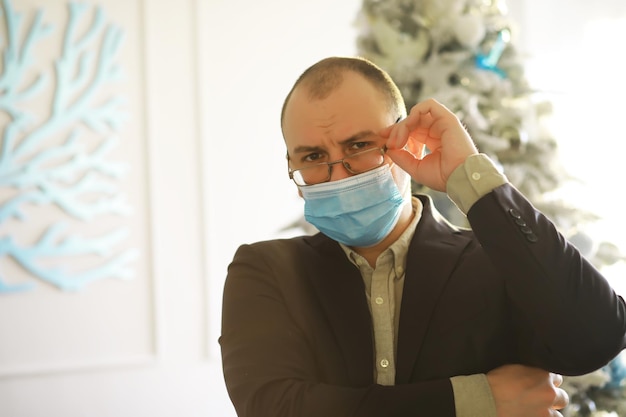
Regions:
<svg viewBox="0 0 626 417"><path fill-rule="evenodd" d="M306 186L320 184L330 180L332 166L342 164L351 174L362 174L382 166L385 163L387 148L371 148L353 153L343 159L332 162L322 162L299 169L289 168L289 178L296 185Z"/></svg>

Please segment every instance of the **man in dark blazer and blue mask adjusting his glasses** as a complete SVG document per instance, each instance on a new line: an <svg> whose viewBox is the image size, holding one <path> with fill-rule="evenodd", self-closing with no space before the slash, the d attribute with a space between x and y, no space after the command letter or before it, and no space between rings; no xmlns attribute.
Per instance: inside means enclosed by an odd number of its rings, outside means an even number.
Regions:
<svg viewBox="0 0 626 417"><path fill-rule="evenodd" d="M321 233L243 245L229 266L220 343L240 417L558 415L559 374L626 347L624 301L441 104L407 116L376 65L328 58L281 125Z"/></svg>

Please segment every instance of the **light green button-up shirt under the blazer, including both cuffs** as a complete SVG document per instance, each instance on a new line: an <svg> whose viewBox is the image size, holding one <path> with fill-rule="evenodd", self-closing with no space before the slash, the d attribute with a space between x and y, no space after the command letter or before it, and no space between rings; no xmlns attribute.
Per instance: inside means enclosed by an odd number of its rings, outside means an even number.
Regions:
<svg viewBox="0 0 626 417"><path fill-rule="evenodd" d="M448 179L450 199L467 214L472 205L494 188L507 182L493 162L484 154L469 156ZM389 248L380 254L372 268L367 260L341 245L348 259L361 272L365 283L367 304L374 328L376 366L374 377L378 384L394 385L400 301L404 288L406 257L409 244L422 216L422 203L413 197L414 216L411 223ZM485 374L450 378L454 391L457 417L495 417L495 402Z"/></svg>

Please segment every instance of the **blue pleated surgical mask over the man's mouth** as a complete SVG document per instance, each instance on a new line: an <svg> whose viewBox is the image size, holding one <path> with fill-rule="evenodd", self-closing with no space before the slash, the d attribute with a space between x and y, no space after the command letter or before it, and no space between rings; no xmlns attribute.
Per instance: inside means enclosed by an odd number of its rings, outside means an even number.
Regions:
<svg viewBox="0 0 626 417"><path fill-rule="evenodd" d="M404 203L388 164L342 180L298 188L305 202L304 218L348 246L381 242L398 223Z"/></svg>

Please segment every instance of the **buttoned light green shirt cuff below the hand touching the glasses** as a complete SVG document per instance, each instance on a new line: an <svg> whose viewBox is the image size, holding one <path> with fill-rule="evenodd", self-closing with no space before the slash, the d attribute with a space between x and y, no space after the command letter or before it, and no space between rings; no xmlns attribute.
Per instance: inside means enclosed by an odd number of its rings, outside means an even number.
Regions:
<svg viewBox="0 0 626 417"><path fill-rule="evenodd" d="M485 154L470 155L448 178L446 191L457 207L467 214L472 205L508 179Z"/></svg>

